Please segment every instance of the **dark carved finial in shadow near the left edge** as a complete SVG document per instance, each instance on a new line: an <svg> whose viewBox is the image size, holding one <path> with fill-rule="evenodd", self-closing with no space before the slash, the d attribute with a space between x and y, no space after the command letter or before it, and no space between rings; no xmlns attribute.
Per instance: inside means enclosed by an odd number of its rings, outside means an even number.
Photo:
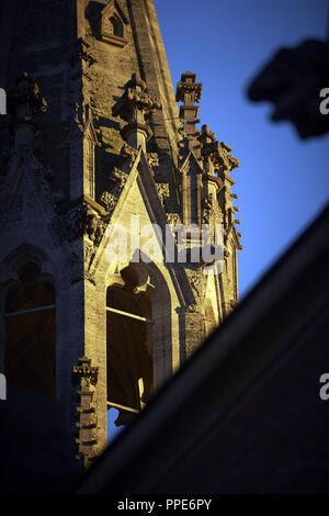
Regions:
<svg viewBox="0 0 329 516"><path fill-rule="evenodd" d="M46 111L47 102L33 77L26 71L18 76L15 87L8 93L8 112L13 119L16 147L32 143L36 134L33 117Z"/></svg>

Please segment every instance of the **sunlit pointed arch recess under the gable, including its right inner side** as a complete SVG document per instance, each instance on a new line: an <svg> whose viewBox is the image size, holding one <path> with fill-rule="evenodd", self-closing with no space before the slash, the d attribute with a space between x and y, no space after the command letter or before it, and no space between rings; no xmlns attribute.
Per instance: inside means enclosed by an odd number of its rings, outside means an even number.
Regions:
<svg viewBox="0 0 329 516"><path fill-rule="evenodd" d="M106 306L109 363L107 399L110 399L111 402L138 411L152 394L155 384L159 383L159 378L166 375L166 372L163 374L163 371L159 369L171 367L170 291L161 271L154 262L121 263L117 265L115 272L107 283ZM115 313L114 311L129 313L133 317ZM116 344L114 344L114 348L111 349L111 338L113 336ZM121 339L122 343L120 341ZM131 345L127 345L128 340ZM126 349L122 351L122 356L120 357L118 349L123 349L123 346L125 346ZM128 350L129 346L131 350ZM134 373L132 373L133 364L128 363L128 359L125 360L125 352L132 354L132 357L135 354L133 358L135 364ZM111 364L111 354L115 361L113 367ZM129 370L129 372L127 370ZM117 382L114 389L111 388L111 373ZM133 379L134 374L136 378ZM118 375L122 375L122 382ZM137 375L139 377L137 378ZM131 378L128 379L127 377ZM143 379L141 386L144 393L138 392L137 381L139 378ZM132 386L132 379L134 386ZM127 388L129 381L131 388ZM118 389L121 389L120 383L125 385L126 389L121 400L117 397ZM122 386L122 390L123 389ZM116 396L117 400L111 399L113 395ZM139 402L140 404L138 406ZM125 411L121 411L116 424L125 424L127 416L128 414Z"/></svg>

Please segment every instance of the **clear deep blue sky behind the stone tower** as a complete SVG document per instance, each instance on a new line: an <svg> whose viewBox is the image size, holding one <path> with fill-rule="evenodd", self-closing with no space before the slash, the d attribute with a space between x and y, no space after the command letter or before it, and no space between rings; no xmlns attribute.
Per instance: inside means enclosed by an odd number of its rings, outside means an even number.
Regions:
<svg viewBox="0 0 329 516"><path fill-rule="evenodd" d="M269 121L269 104L246 98L248 82L280 46L326 37L328 1L154 1L174 86L182 71L197 74L201 123L241 162L232 191L243 233L242 296L328 201L329 135L302 142L288 123ZM112 438L116 416L109 412Z"/></svg>

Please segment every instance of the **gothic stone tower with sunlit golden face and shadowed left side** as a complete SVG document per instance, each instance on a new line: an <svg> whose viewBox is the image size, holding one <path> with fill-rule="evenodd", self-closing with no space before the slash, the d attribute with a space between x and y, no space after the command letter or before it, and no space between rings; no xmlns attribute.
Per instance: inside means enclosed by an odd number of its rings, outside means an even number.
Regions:
<svg viewBox="0 0 329 516"><path fill-rule="evenodd" d="M107 408L125 424L237 303L238 160L196 128L195 74L174 96L151 0L0 9L1 369L61 402L88 464L106 445ZM166 259L168 239L151 259L146 224L162 235L170 224L184 260ZM202 224L212 245L223 225L219 269L192 259ZM125 260L106 251L115 225Z"/></svg>

